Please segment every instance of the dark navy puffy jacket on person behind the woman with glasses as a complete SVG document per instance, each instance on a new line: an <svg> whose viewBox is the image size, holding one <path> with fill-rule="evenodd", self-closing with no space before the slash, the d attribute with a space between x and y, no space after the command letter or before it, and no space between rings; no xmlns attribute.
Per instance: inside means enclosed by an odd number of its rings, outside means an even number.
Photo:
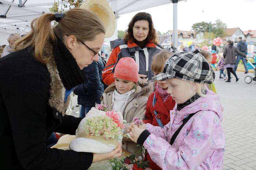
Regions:
<svg viewBox="0 0 256 170"><path fill-rule="evenodd" d="M99 57L99 61L93 61L83 69L88 80L85 84L75 86L74 93L78 95L78 104L86 107L93 107L95 103L100 104L100 98L104 92L102 81L102 70L104 64Z"/></svg>

